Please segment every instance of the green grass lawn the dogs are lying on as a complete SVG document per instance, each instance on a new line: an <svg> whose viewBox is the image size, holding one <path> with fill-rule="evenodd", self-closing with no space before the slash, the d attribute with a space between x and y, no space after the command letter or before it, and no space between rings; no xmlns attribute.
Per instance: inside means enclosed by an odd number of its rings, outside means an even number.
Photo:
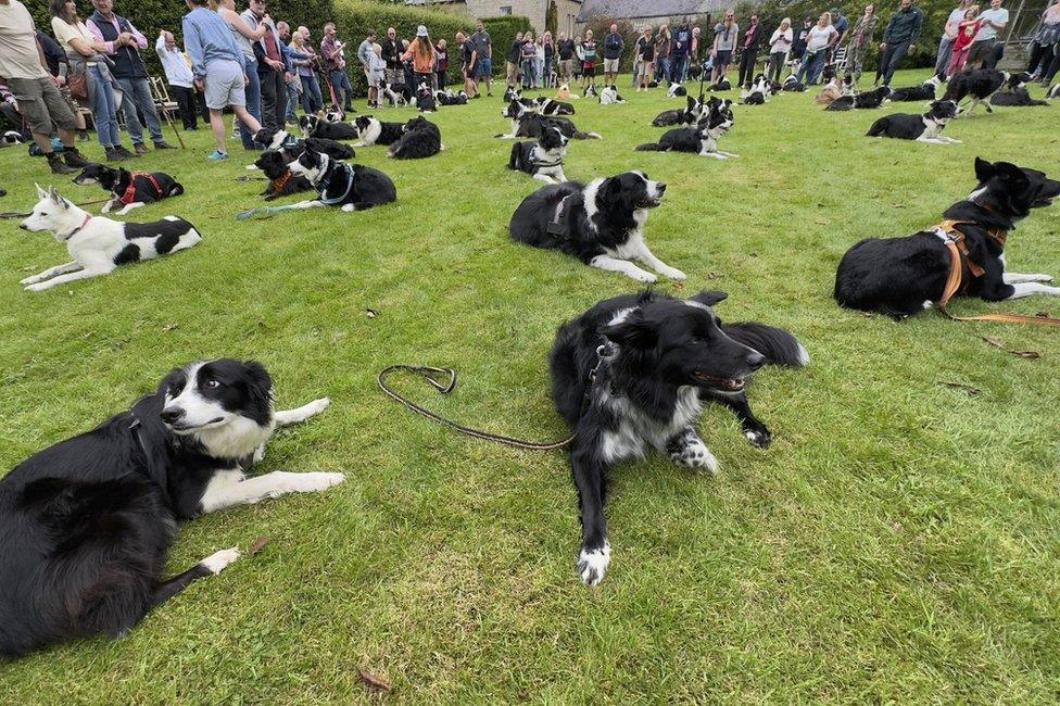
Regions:
<svg viewBox="0 0 1060 706"><path fill-rule="evenodd" d="M512 211L540 185L504 168L510 141L491 139L506 127L500 99L438 113L436 159L358 150L399 189L398 204L366 213L237 223L258 203L261 182L234 180L250 157L232 142L232 161L210 163L207 135L187 134L188 151L136 163L187 196L129 217L188 217L204 235L188 252L28 293L17 280L66 253L0 223L0 467L127 408L172 366L229 355L264 362L282 407L332 400L279 432L262 470L348 480L185 526L173 571L272 541L122 640L0 665L3 701L371 699L358 668L413 703L1060 698L1060 336L931 312L895 324L831 299L853 242L937 223L972 188L974 156L1056 172L1060 109L960 119L946 134L964 143L944 147L863 137L883 112L919 104L832 114L812 93L784 94L737 106L722 149L740 159L717 162L634 153L677 101L623 93L624 106L577 103L578 126L605 139L571 143L567 174L635 167L667 181L647 239L689 279L660 289L724 289L723 317L806 344L808 368L766 369L749 392L772 446L750 447L711 407L701 427L717 478L659 456L617 468L611 568L586 589L563 452L457 436L375 387L391 363L452 365L463 377L447 399L401 387L472 426L558 438L545 364L556 327L635 289L508 240ZM28 209L34 180L102 196L51 178L23 148L0 152L0 172L4 210ZM1060 274L1058 231L1058 207L1035 213L1009 239L1010 266ZM1049 308L1060 313L1045 298L955 303Z"/></svg>

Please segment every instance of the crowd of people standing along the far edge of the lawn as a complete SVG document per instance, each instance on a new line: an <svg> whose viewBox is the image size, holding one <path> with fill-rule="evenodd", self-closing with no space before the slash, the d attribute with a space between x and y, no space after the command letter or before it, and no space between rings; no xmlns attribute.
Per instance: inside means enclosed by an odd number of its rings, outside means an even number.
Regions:
<svg viewBox="0 0 1060 706"><path fill-rule="evenodd" d="M90 2L92 12L83 17L75 0L49 0L52 36L48 36L34 25L20 0L0 0L0 117L30 135L58 173L71 172L84 162L75 140L89 139L86 113L91 115L108 161L146 153L146 137L157 150L172 149L162 133L141 53L148 49L148 38L115 11L115 0ZM279 130L292 123L299 105L306 113L331 104L353 110L345 42L339 39L335 23L324 25L317 46L307 27L274 22L266 0L245 0L242 11L237 10L236 0L185 2L189 12L181 23L182 45L172 30L163 29L154 51L184 128L197 129L199 118L211 126L216 142L211 160L228 156L222 121L226 109L236 113L239 139L248 150L260 149L253 137L262 127ZM974 0L960 0L938 42L936 73L948 76L964 67L996 66L1004 49L1000 33L1009 23L1002 2L989 0L984 10ZM868 50L879 42L873 85L886 86L903 59L914 51L922 28L923 12L914 0L900 0L885 24L871 3L853 26L833 8L816 22L805 17L800 27L785 17L772 33L758 14L752 13L741 26L735 12L729 10L709 39L683 17L672 28L668 24L643 27L632 47L627 47L617 24L610 25L602 40L591 29L571 37L559 33L555 38L551 31L540 36L527 31L518 33L507 48L505 78L508 86L526 89L575 81L589 88L595 86L597 76L614 85L619 64L628 56L633 65L632 85L639 91L682 83L693 66L704 80L717 83L733 63L739 67L739 86L747 88L764 51L771 79L780 80L788 67L798 80L816 84L845 49L845 74L857 83ZM480 98L483 83L485 94L492 96L493 42L483 23L477 22L469 36L457 33L454 40L452 61L459 65L468 97ZM1052 0L1030 43L1027 71L1044 85L1060 70L1058 42L1060 0ZM386 85L444 87L451 55L446 39L432 39L420 25L411 39L400 38L393 27L381 40L369 30L357 48L356 61L368 85L368 105L374 108ZM122 142L119 115L131 150Z"/></svg>

